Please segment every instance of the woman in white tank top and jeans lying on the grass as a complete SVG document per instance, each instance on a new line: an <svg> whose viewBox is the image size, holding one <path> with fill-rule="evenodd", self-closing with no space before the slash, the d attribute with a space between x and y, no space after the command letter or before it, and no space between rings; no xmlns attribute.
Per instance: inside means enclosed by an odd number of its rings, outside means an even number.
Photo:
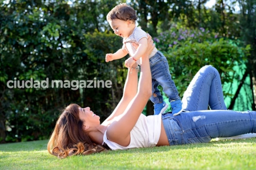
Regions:
<svg viewBox="0 0 256 170"><path fill-rule="evenodd" d="M211 138L256 132L256 112L226 109L218 71L205 66L192 80L184 94L184 110L172 113L141 114L151 93L149 53L154 47L148 40L148 51L142 56L141 73L128 65L123 97L113 113L100 124L99 116L89 107L67 106L60 115L48 142L49 153L60 158L90 154L110 149L127 149L187 143L209 142ZM153 45L152 45L153 44ZM204 109L204 111L194 111ZM237 128L239 127L239 128Z"/></svg>

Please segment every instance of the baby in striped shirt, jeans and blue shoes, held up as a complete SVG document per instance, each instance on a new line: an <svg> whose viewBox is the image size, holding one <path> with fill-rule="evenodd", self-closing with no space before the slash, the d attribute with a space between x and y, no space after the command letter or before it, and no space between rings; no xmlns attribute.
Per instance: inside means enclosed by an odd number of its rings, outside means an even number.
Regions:
<svg viewBox="0 0 256 170"><path fill-rule="evenodd" d="M117 36L123 38L122 48L115 53L108 53L105 56L106 62L120 59L130 55L125 65L132 66L136 62L140 65L140 57L147 50L147 33L136 27L137 15L135 10L125 4L116 5L106 16L107 22ZM136 48L133 43L138 44ZM182 112L182 102L178 90L169 70L166 57L155 47L149 56L150 69L152 74L152 96L150 100L154 103L154 114L162 114L168 108L168 104L163 101L158 86L163 87L163 91L169 97L172 113L178 115Z"/></svg>

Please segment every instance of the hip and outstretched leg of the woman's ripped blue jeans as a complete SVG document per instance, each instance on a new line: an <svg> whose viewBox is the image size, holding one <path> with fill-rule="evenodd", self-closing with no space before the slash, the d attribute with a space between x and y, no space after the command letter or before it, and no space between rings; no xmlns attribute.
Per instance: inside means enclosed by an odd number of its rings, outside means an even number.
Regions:
<svg viewBox="0 0 256 170"><path fill-rule="evenodd" d="M162 114L170 145L206 143L211 138L256 132L256 112L205 110Z"/></svg>

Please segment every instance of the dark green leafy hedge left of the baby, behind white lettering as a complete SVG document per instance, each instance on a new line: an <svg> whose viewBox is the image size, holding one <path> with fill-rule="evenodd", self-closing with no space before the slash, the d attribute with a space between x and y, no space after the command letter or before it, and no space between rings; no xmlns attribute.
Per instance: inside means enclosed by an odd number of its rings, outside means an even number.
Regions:
<svg viewBox="0 0 256 170"><path fill-rule="evenodd" d="M97 31L109 27L104 24L103 16L116 1L102 1L102 6L101 1L75 2L72 7L65 1L25 2L1 4L1 140L48 138L60 109L70 103L90 106L104 119L120 99L125 77L121 60L104 61L105 53L121 47L121 40L112 33ZM86 10L94 14L94 19L87 18ZM9 80L27 81L31 78L37 81L95 78L111 80L113 85L109 89L77 90L7 87Z"/></svg>

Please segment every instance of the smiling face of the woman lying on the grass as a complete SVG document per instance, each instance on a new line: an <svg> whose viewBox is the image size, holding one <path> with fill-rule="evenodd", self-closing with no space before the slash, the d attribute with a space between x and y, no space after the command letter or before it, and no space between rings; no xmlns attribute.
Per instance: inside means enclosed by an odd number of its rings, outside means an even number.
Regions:
<svg viewBox="0 0 256 170"><path fill-rule="evenodd" d="M80 120L89 126L99 125L99 116L95 115L89 107L86 108L78 108L79 109L79 118Z"/></svg>

